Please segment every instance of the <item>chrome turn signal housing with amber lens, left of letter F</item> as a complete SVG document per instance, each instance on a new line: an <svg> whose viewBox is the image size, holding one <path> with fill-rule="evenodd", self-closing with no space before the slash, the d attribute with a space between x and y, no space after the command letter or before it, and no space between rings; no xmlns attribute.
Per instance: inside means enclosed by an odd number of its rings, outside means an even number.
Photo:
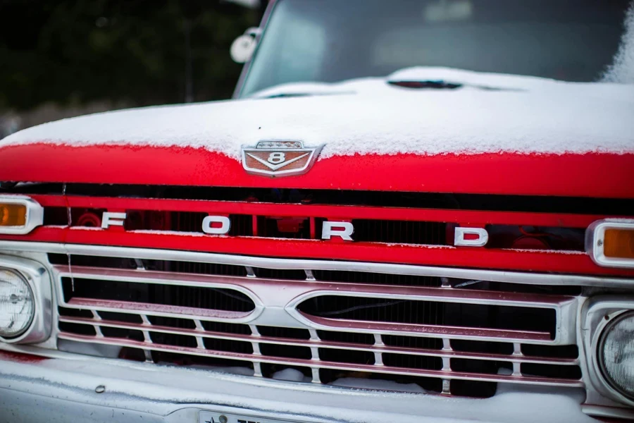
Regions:
<svg viewBox="0 0 634 423"><path fill-rule="evenodd" d="M44 222L44 208L25 195L0 195L0 233L23 235Z"/></svg>

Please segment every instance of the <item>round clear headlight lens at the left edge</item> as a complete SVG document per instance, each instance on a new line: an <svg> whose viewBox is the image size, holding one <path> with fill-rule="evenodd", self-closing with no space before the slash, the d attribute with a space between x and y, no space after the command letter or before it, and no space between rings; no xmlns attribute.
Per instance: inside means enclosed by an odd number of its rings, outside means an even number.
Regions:
<svg viewBox="0 0 634 423"><path fill-rule="evenodd" d="M0 269L0 336L22 335L34 315L35 301L27 281L14 271Z"/></svg>

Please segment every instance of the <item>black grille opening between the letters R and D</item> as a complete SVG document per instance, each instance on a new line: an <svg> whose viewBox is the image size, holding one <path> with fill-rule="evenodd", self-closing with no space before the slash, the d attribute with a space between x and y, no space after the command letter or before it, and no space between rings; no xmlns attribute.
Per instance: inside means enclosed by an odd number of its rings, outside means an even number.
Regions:
<svg viewBox="0 0 634 423"><path fill-rule="evenodd" d="M447 245L445 223L355 219L352 225L355 241Z"/></svg>

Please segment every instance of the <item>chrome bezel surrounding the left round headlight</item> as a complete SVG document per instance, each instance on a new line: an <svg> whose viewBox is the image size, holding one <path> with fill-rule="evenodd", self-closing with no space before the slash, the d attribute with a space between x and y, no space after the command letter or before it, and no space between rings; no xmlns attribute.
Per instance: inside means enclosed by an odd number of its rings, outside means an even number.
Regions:
<svg viewBox="0 0 634 423"><path fill-rule="evenodd" d="M42 264L18 257L0 256L0 267L15 272L26 281L34 299L35 311L30 326L19 336L4 338L0 343L39 343L51 335L52 293L49 273Z"/></svg>

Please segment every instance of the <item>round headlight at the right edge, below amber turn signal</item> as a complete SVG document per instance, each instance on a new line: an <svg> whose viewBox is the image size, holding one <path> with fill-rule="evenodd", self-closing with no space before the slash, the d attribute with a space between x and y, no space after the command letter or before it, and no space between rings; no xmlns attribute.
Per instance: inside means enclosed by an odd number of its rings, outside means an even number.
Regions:
<svg viewBox="0 0 634 423"><path fill-rule="evenodd" d="M599 341L599 364L609 385L634 398L634 312L615 317Z"/></svg>

